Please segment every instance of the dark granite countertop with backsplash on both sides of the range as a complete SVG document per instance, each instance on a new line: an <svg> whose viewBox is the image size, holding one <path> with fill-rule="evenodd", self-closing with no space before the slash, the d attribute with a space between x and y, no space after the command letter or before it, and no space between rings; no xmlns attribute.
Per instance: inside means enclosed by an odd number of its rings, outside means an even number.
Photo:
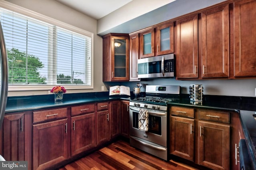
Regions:
<svg viewBox="0 0 256 170"><path fill-rule="evenodd" d="M86 104L92 102L106 102L111 100L130 100L130 98L133 99L134 96L109 96L108 92L64 94L62 102L54 102L53 94L8 97L6 113L70 106L75 104ZM180 100L174 100L169 104L170 106L186 106L236 111L239 114L242 122L242 127L246 138L246 145L248 148L248 153L251 157L252 166L256 167L256 120L252 116L253 114L256 114L256 98L204 95L202 102L191 102L188 94L182 94Z"/></svg>

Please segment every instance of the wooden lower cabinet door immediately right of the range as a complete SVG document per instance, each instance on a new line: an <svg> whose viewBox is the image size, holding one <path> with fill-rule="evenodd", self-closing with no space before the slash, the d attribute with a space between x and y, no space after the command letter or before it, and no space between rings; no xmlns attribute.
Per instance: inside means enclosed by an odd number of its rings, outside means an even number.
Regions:
<svg viewBox="0 0 256 170"><path fill-rule="evenodd" d="M194 161L195 154L195 120L171 116L170 153Z"/></svg>

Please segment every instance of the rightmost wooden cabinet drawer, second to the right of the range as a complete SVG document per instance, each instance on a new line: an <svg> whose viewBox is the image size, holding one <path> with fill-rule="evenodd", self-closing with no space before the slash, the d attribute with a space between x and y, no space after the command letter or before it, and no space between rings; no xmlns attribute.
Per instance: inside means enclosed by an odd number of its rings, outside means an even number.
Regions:
<svg viewBox="0 0 256 170"><path fill-rule="evenodd" d="M199 119L229 123L229 112L199 109Z"/></svg>

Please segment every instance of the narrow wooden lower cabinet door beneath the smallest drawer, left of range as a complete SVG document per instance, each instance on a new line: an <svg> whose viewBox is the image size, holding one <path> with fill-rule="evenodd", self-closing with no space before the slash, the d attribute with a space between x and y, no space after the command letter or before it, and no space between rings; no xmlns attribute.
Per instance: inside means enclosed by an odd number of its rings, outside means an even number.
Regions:
<svg viewBox="0 0 256 170"><path fill-rule="evenodd" d="M110 140L110 121L108 110L97 112L97 145Z"/></svg>

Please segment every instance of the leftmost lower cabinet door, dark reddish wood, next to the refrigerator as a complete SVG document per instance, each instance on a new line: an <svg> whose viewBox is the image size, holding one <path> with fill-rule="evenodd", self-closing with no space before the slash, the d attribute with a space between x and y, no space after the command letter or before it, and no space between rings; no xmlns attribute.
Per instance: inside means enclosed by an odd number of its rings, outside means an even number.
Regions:
<svg viewBox="0 0 256 170"><path fill-rule="evenodd" d="M3 122L5 160L25 160L24 113L5 115Z"/></svg>

